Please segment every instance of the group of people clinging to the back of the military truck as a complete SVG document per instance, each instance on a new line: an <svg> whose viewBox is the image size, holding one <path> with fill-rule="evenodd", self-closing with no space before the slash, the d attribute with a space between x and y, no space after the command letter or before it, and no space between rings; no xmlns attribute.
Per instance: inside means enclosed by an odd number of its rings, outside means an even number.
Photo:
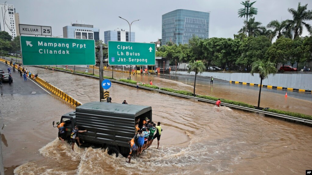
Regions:
<svg viewBox="0 0 312 175"><path fill-rule="evenodd" d="M149 118L145 117L144 121L142 121L142 125L139 127L140 118L137 117L135 119L135 127L134 127L134 137L128 141L130 147L129 153L129 161L130 163L132 152L136 152L137 155L141 154L143 150L147 149L150 145L152 145L153 140L157 138L157 149L159 147L159 140L161 136L161 131L163 130L160 126L160 122L154 123L149 122Z"/></svg>

